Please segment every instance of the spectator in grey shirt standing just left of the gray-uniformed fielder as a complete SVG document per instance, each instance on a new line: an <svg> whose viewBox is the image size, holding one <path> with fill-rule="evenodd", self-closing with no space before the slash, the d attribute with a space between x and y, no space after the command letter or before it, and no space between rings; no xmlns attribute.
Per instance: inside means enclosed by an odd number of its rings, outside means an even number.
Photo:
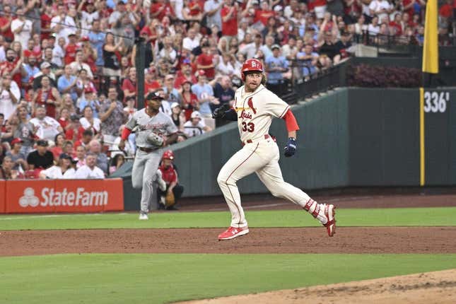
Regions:
<svg viewBox="0 0 456 304"><path fill-rule="evenodd" d="M122 103L117 100L117 90L111 86L107 93L107 102L100 108L101 130L104 144L112 146L119 136L119 126L127 120Z"/></svg>

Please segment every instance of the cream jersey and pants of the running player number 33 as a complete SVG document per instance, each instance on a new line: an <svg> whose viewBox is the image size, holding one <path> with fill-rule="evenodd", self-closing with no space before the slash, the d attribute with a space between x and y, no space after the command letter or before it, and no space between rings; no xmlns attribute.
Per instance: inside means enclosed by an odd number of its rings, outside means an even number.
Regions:
<svg viewBox="0 0 456 304"><path fill-rule="evenodd" d="M289 199L302 207L312 201L301 189L283 181L279 147L269 136L272 119L286 115L290 106L260 85L252 93L246 93L244 86L238 88L233 107L238 114L239 134L244 146L223 165L217 177L231 211L230 226L247 226L236 182L254 172L275 197Z"/></svg>

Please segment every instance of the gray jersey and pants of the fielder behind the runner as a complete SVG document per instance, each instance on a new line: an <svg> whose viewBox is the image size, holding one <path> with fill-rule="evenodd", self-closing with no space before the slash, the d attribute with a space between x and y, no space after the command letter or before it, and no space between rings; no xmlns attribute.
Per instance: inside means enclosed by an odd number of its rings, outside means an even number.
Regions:
<svg viewBox="0 0 456 304"><path fill-rule="evenodd" d="M160 164L163 149L153 146L147 141L148 134L155 132L159 135L169 136L177 132L173 120L168 115L158 112L150 117L145 109L134 113L127 122L128 129L136 129L136 156L134 158L133 170L131 172L131 183L135 189L143 188L141 191L141 212L147 213L152 198L152 184L156 180L156 172ZM154 151L145 152L140 148L153 148Z"/></svg>

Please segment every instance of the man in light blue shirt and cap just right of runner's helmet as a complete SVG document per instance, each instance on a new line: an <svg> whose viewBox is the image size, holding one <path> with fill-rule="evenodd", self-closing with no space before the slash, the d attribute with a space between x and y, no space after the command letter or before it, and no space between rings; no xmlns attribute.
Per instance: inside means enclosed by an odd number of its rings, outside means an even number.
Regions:
<svg viewBox="0 0 456 304"><path fill-rule="evenodd" d="M269 90L277 95L283 95L286 92L286 72L288 71L288 60L280 56L281 48L279 45L273 45L272 56L264 61L266 71L268 72L267 84Z"/></svg>

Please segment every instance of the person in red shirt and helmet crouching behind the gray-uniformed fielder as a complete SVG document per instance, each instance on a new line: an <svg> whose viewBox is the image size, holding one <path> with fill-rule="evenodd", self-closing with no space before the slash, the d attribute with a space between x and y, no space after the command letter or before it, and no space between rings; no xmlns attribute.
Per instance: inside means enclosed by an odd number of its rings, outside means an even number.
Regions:
<svg viewBox="0 0 456 304"><path fill-rule="evenodd" d="M182 197L182 193L184 192L184 187L182 187L182 185L179 185L177 168L173 163L174 158L175 156L173 151L165 151L165 153L163 153L160 167L158 168L158 170L160 170L160 175L165 182L165 189L160 189L160 187L157 189L157 197L159 202L158 206L166 210L177 210L177 200ZM175 204L170 207L165 207L165 197L169 192L173 192Z"/></svg>

